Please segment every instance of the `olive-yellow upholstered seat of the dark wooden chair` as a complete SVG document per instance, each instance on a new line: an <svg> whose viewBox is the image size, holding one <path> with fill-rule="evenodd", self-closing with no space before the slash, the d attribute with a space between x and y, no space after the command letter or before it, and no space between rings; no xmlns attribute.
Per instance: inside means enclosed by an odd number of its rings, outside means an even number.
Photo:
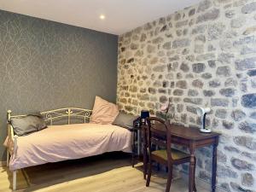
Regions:
<svg viewBox="0 0 256 192"><path fill-rule="evenodd" d="M167 152L166 149L156 150L152 151L152 154L159 156L160 158L167 160ZM179 151L177 149L172 148L171 151L172 154L172 160L182 160L184 158L190 157L189 154L183 153L182 151Z"/></svg>

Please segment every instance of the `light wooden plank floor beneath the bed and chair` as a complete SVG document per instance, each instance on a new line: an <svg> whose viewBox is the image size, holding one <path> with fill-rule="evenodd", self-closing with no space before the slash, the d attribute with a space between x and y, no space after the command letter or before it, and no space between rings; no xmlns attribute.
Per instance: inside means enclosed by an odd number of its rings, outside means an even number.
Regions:
<svg viewBox="0 0 256 192"><path fill-rule="evenodd" d="M105 154L82 160L34 166L18 172L18 190L47 192L161 192L166 189L166 173L154 172L145 187L142 164L131 167L130 156ZM0 192L11 191L11 173L0 167ZM182 179L172 182L172 192L188 191ZM198 189L198 192L205 192Z"/></svg>

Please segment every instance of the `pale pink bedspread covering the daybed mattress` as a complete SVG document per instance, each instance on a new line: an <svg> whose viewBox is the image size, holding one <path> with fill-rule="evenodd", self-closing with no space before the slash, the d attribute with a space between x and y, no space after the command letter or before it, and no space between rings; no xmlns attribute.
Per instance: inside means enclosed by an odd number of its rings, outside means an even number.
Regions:
<svg viewBox="0 0 256 192"><path fill-rule="evenodd" d="M52 125L18 137L9 169L73 160L111 151L131 152L131 131L115 125Z"/></svg>

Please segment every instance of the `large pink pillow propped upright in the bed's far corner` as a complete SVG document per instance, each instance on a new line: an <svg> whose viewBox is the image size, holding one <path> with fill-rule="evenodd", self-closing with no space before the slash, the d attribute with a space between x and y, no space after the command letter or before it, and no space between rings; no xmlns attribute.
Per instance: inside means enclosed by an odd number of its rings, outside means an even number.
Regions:
<svg viewBox="0 0 256 192"><path fill-rule="evenodd" d="M117 105L102 99L100 96L96 96L90 116L90 123L112 124L118 114L119 109Z"/></svg>

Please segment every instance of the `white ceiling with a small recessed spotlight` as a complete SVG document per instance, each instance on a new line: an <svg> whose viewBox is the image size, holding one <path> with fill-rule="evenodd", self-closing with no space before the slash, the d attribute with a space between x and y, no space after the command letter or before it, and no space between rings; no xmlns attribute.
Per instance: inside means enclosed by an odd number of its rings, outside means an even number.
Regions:
<svg viewBox="0 0 256 192"><path fill-rule="evenodd" d="M200 0L0 0L0 9L122 34ZM100 20L100 15L105 20Z"/></svg>

